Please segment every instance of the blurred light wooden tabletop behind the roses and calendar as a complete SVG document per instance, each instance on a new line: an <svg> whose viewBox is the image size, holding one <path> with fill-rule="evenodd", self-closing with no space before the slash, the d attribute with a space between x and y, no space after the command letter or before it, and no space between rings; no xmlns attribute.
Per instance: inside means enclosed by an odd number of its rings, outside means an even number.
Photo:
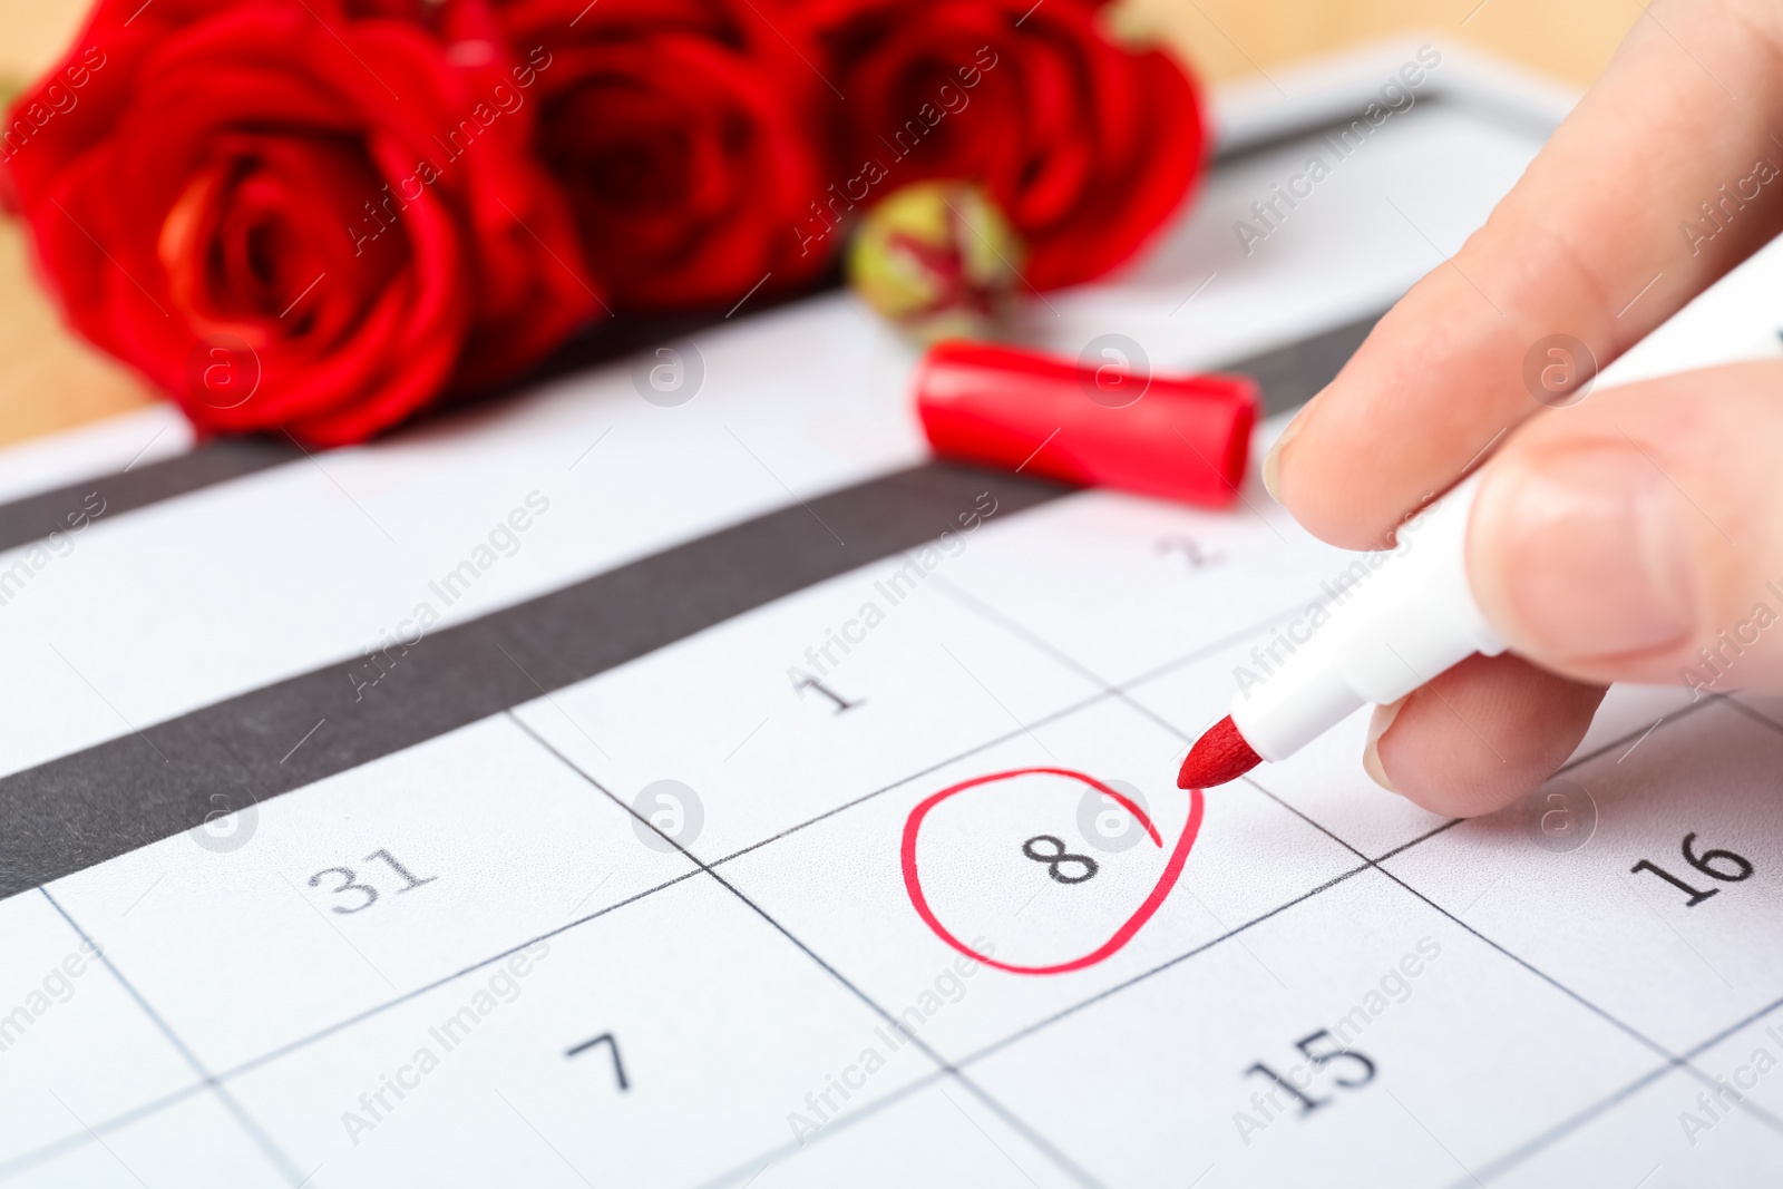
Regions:
<svg viewBox="0 0 1783 1189"><path fill-rule="evenodd" d="M1296 59L1398 30L1451 34L1573 86L1590 84L1639 20L1635 0L1120 0L1122 21L1171 43L1209 82L1237 82ZM86 4L0 4L0 94L52 64ZM0 444L157 399L62 328L30 275L16 223L0 219Z"/></svg>

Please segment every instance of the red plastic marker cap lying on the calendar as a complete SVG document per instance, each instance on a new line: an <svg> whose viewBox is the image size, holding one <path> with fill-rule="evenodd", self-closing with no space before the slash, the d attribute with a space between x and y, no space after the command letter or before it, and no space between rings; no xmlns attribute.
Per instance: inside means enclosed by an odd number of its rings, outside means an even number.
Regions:
<svg viewBox="0 0 1783 1189"><path fill-rule="evenodd" d="M943 458L1225 506L1237 496L1261 401L1245 376L1154 376L1116 339L1070 362L941 342L916 371L916 412ZM1095 348L1097 344L1091 344ZM1134 358L1138 357L1138 364Z"/></svg>

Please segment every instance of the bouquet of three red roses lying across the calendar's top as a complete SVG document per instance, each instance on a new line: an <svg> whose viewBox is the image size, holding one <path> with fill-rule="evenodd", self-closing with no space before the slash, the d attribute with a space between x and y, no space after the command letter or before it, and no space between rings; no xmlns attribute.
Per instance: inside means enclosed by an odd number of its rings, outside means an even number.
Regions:
<svg viewBox="0 0 1783 1189"><path fill-rule="evenodd" d="M98 0L0 132L73 326L210 431L362 440L592 319L827 276L970 182L1038 289L1200 168L1186 73L1098 0Z"/></svg>

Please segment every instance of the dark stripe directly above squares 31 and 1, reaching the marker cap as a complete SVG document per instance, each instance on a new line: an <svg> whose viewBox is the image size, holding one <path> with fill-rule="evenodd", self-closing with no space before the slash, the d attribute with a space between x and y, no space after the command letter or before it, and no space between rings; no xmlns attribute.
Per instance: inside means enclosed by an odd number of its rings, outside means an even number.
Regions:
<svg viewBox="0 0 1783 1189"><path fill-rule="evenodd" d="M0 897L424 743L920 549L945 529L998 522L1070 490L941 463L899 471L27 768L0 779Z"/></svg>

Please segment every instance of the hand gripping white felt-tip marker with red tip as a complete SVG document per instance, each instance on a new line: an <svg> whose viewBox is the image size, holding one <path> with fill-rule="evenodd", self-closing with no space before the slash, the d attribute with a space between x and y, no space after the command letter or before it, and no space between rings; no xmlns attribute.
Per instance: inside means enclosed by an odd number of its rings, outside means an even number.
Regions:
<svg viewBox="0 0 1783 1189"><path fill-rule="evenodd" d="M1318 633L1330 640L1239 699L1186 779L1280 758L1364 697L1385 702L1364 752L1375 781L1487 813L1573 752L1610 681L1783 690L1783 360L1571 406L1589 355L1573 385L1539 381L1555 335L1608 362L1783 230L1778 46L1783 11L1756 0L1637 23L1487 225L1293 421L1264 483L1353 549L1391 542L1407 510L1487 462L1426 513L1448 528L1421 526ZM1401 570L1439 556L1442 590L1405 601L1419 579ZM1394 660L1417 681L1401 688Z"/></svg>

